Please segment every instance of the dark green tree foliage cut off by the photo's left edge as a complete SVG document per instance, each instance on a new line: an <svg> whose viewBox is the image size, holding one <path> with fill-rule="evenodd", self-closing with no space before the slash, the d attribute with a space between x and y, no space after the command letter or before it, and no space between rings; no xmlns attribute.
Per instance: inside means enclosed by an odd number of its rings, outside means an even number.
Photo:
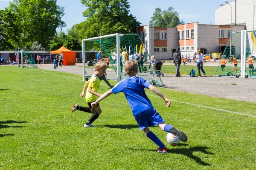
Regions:
<svg viewBox="0 0 256 170"><path fill-rule="evenodd" d="M0 50L13 50L18 44L20 30L15 25L16 15L9 9L0 10Z"/></svg>

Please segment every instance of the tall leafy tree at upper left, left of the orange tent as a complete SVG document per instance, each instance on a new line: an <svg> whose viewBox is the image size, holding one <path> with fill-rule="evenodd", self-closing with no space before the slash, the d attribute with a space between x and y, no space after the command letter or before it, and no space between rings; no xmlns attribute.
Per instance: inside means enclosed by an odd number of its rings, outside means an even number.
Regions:
<svg viewBox="0 0 256 170"><path fill-rule="evenodd" d="M56 33L56 28L65 26L61 21L64 7L57 0L13 0L9 9L16 14L16 25L22 30L23 48L29 48L32 42L48 47Z"/></svg>

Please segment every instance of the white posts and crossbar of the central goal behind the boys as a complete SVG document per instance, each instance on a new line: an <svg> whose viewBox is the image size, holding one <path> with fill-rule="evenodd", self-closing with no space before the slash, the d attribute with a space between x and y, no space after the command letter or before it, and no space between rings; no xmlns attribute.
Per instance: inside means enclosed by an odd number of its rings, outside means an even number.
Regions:
<svg viewBox="0 0 256 170"><path fill-rule="evenodd" d="M121 81L121 74L120 74L120 34L109 34L99 37L87 38L82 40L82 57L83 57L83 80L85 81L85 49L84 49L84 42L96 39L102 39L106 37L114 37L116 36L116 74L117 74L117 82Z"/></svg>

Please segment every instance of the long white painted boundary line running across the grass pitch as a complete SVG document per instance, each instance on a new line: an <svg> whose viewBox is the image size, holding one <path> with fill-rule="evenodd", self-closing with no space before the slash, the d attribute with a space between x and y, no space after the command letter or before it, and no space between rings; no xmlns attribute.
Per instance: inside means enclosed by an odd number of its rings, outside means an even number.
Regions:
<svg viewBox="0 0 256 170"><path fill-rule="evenodd" d="M41 71L41 72L43 72L43 71ZM47 72L43 72L43 73L47 73ZM52 73L47 73L47 74L52 74ZM52 75L61 76L61 75L58 75L58 74L52 74ZM70 78L70 79L75 79L75 78L66 77L66 76L61 76L61 77ZM75 80L83 81L83 80L80 80L80 79L75 79ZM161 98L160 96L154 96L154 95L151 95L151 94L148 94L148 96ZM161 99L162 99L162 98L161 98ZM178 100L172 100L172 99L170 99L170 100L173 101L173 102L179 102L179 103L183 103L183 104L186 104L186 105L198 106L198 107L201 107L201 108L213 109L213 110L216 110L216 111L224 111L224 112L228 112L228 113L235 113L235 114L240 114L240 115L244 115L244 116L256 117L256 116L250 115L250 114L244 114L244 113L239 113L239 112L227 111L227 110L224 110L224 109L212 108L212 107L203 106L203 105L197 105L197 104L192 104L192 103L188 103L188 102L181 102L181 101L178 101Z"/></svg>

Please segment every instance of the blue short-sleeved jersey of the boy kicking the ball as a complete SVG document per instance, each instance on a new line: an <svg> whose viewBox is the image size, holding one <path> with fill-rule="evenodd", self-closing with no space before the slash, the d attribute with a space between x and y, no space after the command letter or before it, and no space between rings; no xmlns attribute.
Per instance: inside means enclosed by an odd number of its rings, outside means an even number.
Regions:
<svg viewBox="0 0 256 170"><path fill-rule="evenodd" d="M144 88L149 87L149 83L141 77L128 77L119 82L111 89L113 94L123 92L131 107L133 115L137 115L143 111L153 108L150 100L145 94Z"/></svg>

